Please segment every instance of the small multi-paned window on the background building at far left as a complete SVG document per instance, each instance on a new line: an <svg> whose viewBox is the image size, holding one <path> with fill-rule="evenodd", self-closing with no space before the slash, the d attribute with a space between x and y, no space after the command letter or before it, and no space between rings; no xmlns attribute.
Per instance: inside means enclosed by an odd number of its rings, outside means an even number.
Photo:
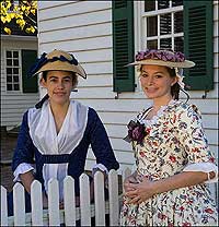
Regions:
<svg viewBox="0 0 219 227"><path fill-rule="evenodd" d="M20 71L21 71L21 57L19 50L7 50L5 52L5 71L7 71L7 91L20 91L21 79L20 79Z"/></svg>

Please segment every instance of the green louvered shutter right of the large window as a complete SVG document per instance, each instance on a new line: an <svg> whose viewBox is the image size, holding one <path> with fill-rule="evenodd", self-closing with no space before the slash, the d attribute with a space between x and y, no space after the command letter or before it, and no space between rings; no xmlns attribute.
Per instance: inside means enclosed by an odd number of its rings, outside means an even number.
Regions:
<svg viewBox="0 0 219 227"><path fill-rule="evenodd" d="M196 65L185 72L189 89L214 88L212 1L184 0L184 50Z"/></svg>

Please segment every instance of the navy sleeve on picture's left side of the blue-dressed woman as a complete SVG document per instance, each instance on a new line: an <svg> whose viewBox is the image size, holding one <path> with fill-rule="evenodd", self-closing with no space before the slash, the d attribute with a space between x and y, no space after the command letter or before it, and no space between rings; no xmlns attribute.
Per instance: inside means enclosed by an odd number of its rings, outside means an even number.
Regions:
<svg viewBox="0 0 219 227"><path fill-rule="evenodd" d="M28 133L27 111L23 116L21 130L12 160L12 170L15 171L20 164L34 164L34 145Z"/></svg>

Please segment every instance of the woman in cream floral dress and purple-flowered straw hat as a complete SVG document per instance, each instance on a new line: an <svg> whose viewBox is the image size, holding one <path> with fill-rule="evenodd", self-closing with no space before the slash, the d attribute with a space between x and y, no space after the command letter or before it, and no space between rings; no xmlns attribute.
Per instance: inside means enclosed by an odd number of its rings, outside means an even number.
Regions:
<svg viewBox="0 0 219 227"><path fill-rule="evenodd" d="M195 63L181 52L146 50L130 65L138 65L153 104L128 124L137 170L124 182L120 225L217 226L207 184L217 181L218 168L199 110L178 100L182 69Z"/></svg>

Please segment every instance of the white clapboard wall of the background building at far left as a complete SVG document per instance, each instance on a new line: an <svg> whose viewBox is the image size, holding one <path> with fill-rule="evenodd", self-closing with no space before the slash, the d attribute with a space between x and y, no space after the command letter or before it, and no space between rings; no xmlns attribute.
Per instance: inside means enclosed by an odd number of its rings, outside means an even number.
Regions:
<svg viewBox="0 0 219 227"><path fill-rule="evenodd" d="M36 50L37 38L23 36L14 38L14 36L2 36L1 47L1 126L15 127L21 123L23 112L38 101L39 94L7 92L5 50ZM22 80L22 77L20 77L20 80Z"/></svg>

